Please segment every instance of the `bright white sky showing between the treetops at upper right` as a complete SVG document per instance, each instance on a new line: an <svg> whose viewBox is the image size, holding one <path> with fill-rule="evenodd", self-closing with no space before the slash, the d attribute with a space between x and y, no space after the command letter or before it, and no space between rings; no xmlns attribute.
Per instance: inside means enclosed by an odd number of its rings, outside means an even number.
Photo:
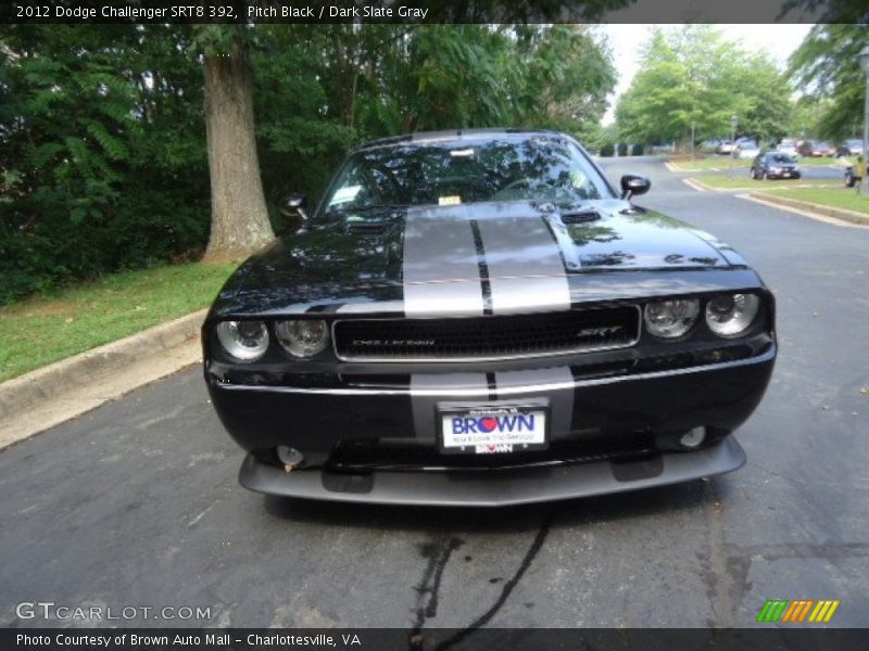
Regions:
<svg viewBox="0 0 869 651"><path fill-rule="evenodd" d="M631 85L637 74L640 48L648 40L655 25L602 25L601 33L607 36L609 47L613 49L613 60L616 63L619 78L615 92L609 97L609 108L604 116L605 125L612 124L618 98ZM681 25L664 25L666 29L678 29ZM766 49L783 68L791 55L811 29L813 25L718 25L727 40L741 41L742 47L750 51Z"/></svg>

